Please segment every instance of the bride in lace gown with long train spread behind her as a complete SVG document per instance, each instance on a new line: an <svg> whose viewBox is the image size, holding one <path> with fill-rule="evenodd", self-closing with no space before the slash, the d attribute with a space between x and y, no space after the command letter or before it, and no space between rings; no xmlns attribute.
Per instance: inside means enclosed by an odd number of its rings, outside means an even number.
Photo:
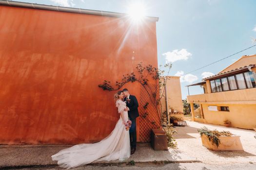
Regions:
<svg viewBox="0 0 256 170"><path fill-rule="evenodd" d="M120 113L115 129L109 136L98 143L77 144L70 148L63 149L52 155L53 161L58 161L60 167L70 169L93 161L123 161L130 157L130 136L129 131L125 129L125 123L128 121L128 108L126 102L123 102L123 93L118 91L114 99Z"/></svg>

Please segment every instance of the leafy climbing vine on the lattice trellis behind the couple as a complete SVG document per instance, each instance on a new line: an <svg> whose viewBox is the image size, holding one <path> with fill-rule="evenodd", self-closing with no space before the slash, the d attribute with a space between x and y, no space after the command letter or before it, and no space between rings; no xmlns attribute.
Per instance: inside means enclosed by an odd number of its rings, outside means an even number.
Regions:
<svg viewBox="0 0 256 170"><path fill-rule="evenodd" d="M160 66L161 67L161 66ZM168 146L169 147L176 147L176 141L173 138L173 134L177 133L173 128L172 125L168 123L166 112L163 110L163 103L161 99L165 97L163 87L166 85L166 81L168 79L168 75L172 68L171 64L164 65L164 68L167 70L167 77L166 79L160 80L160 76L164 74L164 70L159 68L155 68L152 65L148 65L144 67L141 63L138 63L136 70L138 74L136 75L134 72L125 74L122 76L121 81L116 81L115 87L111 84L110 81L105 80L102 84L98 85L98 87L102 88L103 90L119 90L123 85L126 83L133 83L138 82L142 87L145 89L149 101L143 106L145 113L142 114L142 118L146 119L148 113L146 110L148 109L148 104L151 104L157 111L158 119L160 123L157 122L149 122L155 124L158 128L162 128L166 133L168 139ZM149 79L153 79L154 86L149 85ZM163 128L165 126L166 128Z"/></svg>

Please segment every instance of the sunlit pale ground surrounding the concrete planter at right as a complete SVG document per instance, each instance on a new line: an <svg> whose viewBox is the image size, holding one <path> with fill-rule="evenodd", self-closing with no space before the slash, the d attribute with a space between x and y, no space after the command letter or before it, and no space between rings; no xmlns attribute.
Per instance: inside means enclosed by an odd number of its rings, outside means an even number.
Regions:
<svg viewBox="0 0 256 170"><path fill-rule="evenodd" d="M197 160L206 164L231 164L231 163L254 163L256 164L256 132L238 128L227 128L211 124L203 124L187 121L189 126L177 127L178 134L175 136L178 149L187 155L196 157ZM244 151L211 151L202 146L198 128L206 126L213 130L230 131L240 136ZM256 170L256 168L255 168Z"/></svg>

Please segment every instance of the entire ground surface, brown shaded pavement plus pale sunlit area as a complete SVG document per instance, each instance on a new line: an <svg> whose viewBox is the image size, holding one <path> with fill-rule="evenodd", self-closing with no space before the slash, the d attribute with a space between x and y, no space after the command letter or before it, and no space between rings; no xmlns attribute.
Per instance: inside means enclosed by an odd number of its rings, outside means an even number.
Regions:
<svg viewBox="0 0 256 170"><path fill-rule="evenodd" d="M245 168L256 170L256 133L250 130L237 128L226 128L197 122L187 121L189 126L176 127L178 134L175 136L178 149L169 151L154 151L149 143L138 143L137 151L131 155L129 160L124 162L100 162L77 168L78 170L118 170L120 167L125 170L142 168L171 169L177 170L233 170L230 165L236 165L234 170ZM244 151L236 152L213 152L202 146L201 138L197 129L206 126L209 129L228 130L231 133L241 136ZM61 145L0 145L0 169L33 168L35 169L56 169L57 162L51 160L51 155L59 150L70 147ZM130 161L135 166L127 165Z"/></svg>

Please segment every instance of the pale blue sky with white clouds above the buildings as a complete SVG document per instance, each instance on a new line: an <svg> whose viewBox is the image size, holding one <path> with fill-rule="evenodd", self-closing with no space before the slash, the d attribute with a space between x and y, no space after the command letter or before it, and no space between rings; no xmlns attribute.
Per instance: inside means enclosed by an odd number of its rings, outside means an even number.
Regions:
<svg viewBox="0 0 256 170"><path fill-rule="evenodd" d="M157 22L158 64L172 62L170 75L181 75L182 99L185 85L217 74L242 55L256 54L256 47L209 67L184 75L253 45L256 38L256 0L17 0L127 13L128 6L140 1L147 16ZM256 44L256 43L255 43ZM201 94L199 86L190 94Z"/></svg>

